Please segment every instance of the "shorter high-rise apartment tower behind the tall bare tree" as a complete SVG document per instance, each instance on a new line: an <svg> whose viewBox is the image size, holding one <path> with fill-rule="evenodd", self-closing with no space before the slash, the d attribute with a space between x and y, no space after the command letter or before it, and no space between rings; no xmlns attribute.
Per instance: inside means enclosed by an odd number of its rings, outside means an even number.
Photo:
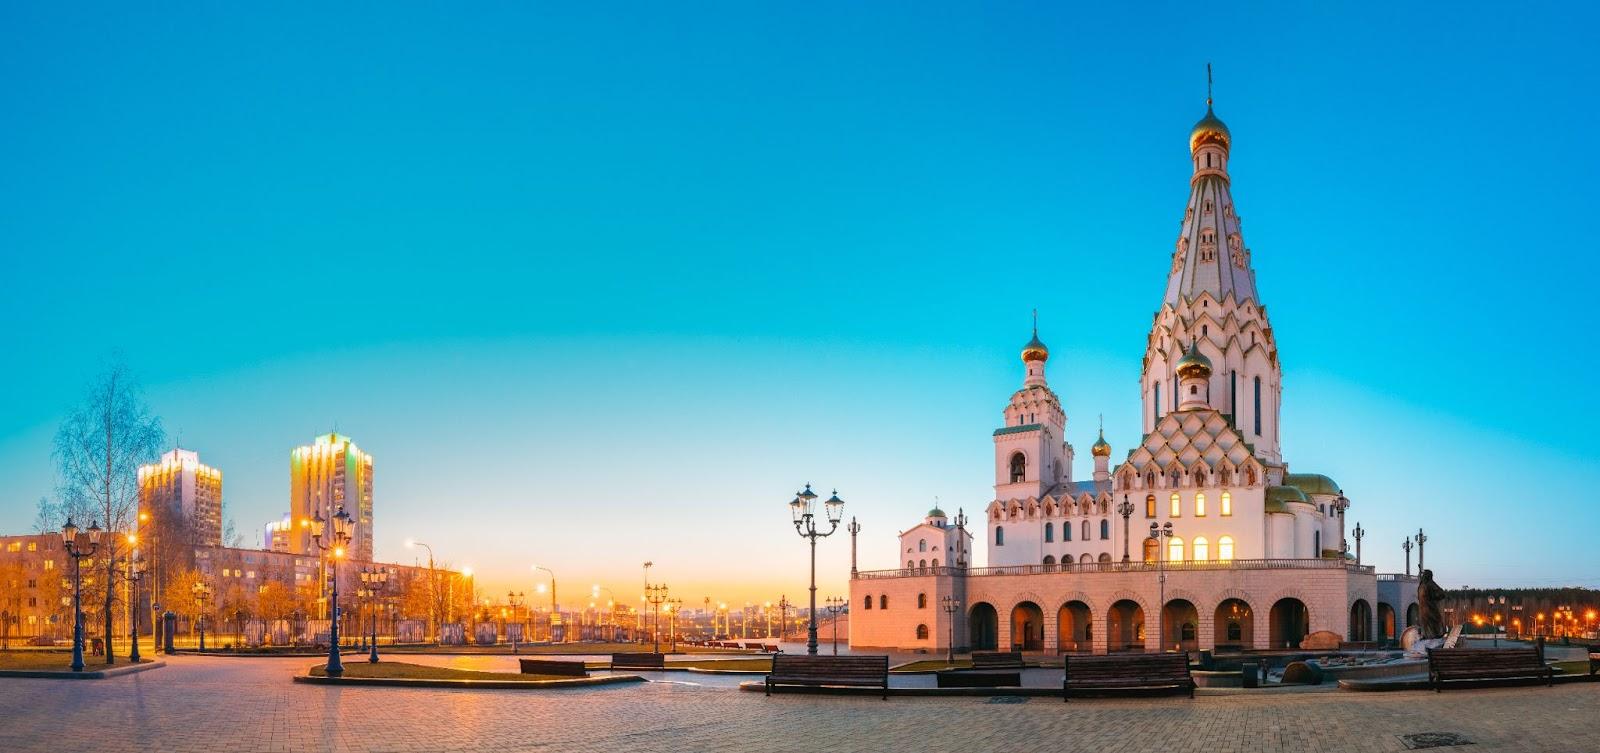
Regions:
<svg viewBox="0 0 1600 753"><path fill-rule="evenodd" d="M162 531L182 531L195 547L221 547L222 472L202 464L198 452L179 448L160 462L141 465L139 520L155 521Z"/></svg>

